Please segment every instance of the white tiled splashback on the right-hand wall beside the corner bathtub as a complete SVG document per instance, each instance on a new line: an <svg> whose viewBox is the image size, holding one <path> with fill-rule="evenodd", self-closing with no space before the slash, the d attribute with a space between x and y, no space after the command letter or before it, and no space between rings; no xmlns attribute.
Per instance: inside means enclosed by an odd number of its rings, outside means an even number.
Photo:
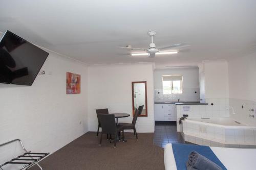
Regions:
<svg viewBox="0 0 256 170"><path fill-rule="evenodd" d="M230 98L229 105L233 107L234 113L236 113L232 114L230 112L231 118L249 126L256 126L256 102ZM253 109L253 111L249 111L250 109ZM254 115L254 117L249 115Z"/></svg>

